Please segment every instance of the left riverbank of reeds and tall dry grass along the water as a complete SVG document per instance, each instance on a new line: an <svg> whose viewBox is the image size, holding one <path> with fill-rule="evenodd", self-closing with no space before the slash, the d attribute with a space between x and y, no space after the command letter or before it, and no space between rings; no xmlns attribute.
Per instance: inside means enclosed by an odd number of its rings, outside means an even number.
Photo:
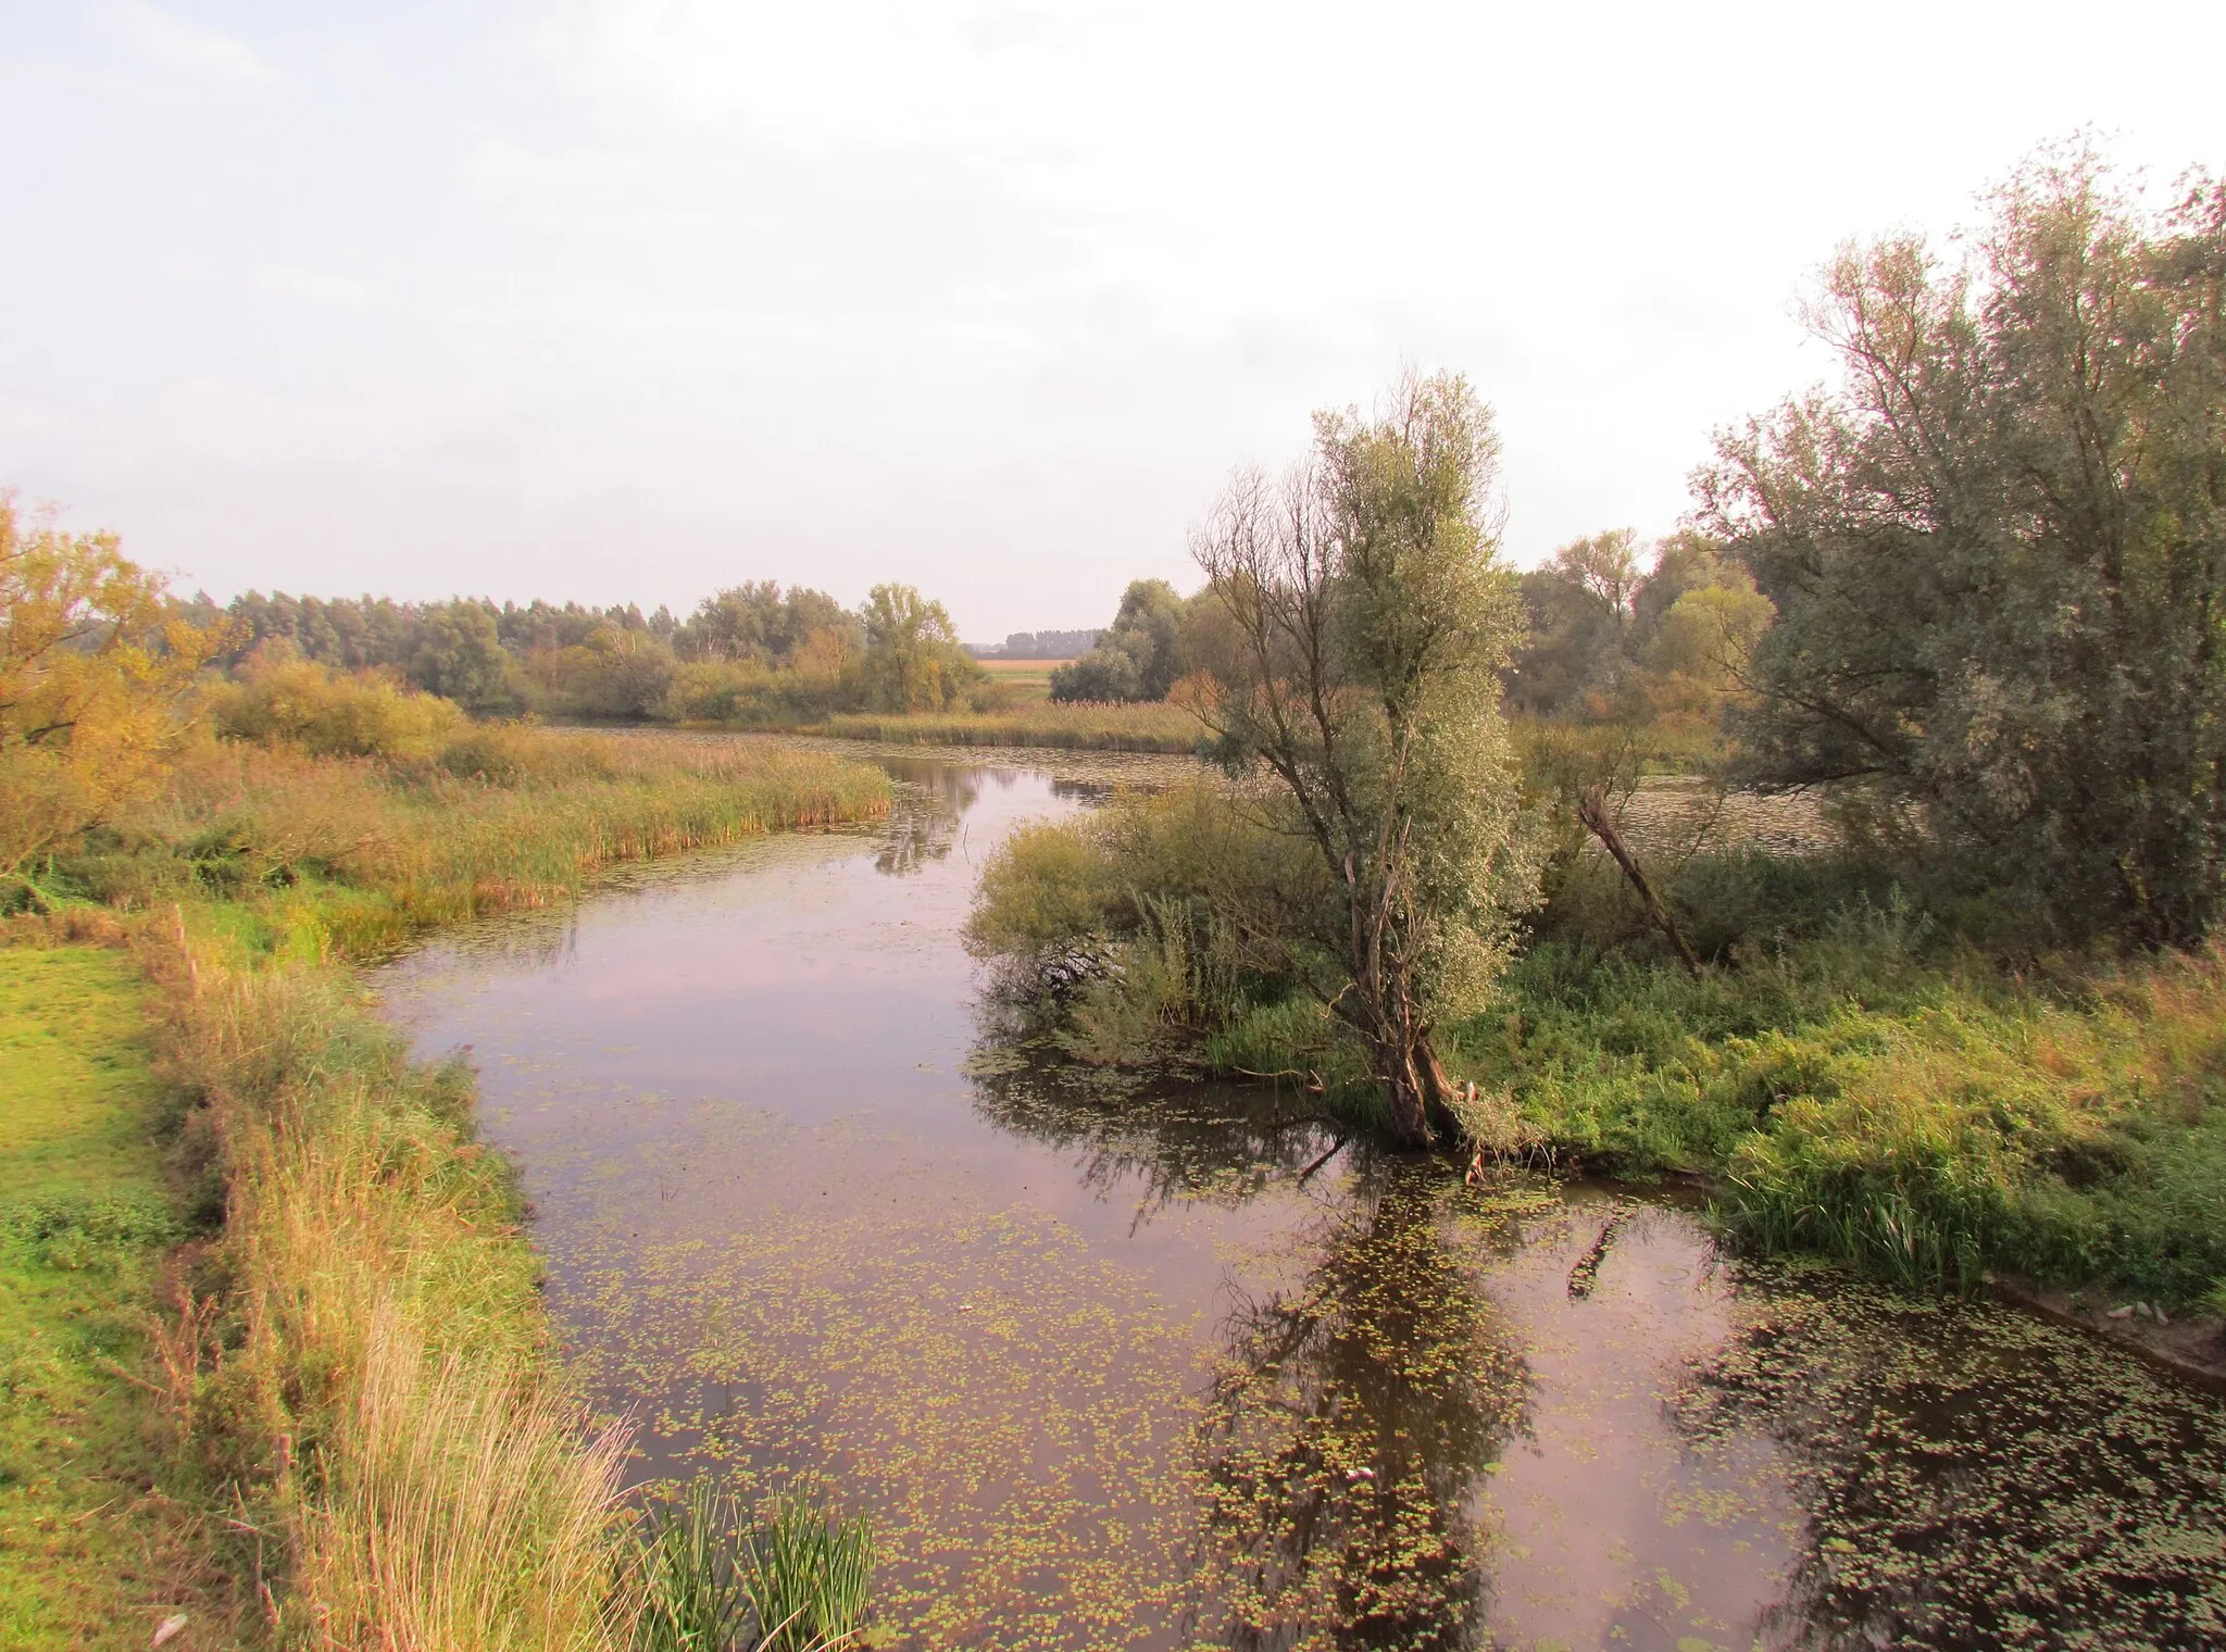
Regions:
<svg viewBox="0 0 2226 1652"><path fill-rule="evenodd" d="M207 1599L171 1645L229 1645L234 1625L280 1643L630 1641L612 1596L621 1443L588 1429L545 1358L539 1258L508 1164L479 1142L472 1075L412 1064L345 964L568 899L621 859L886 808L877 770L717 741L474 730L403 759L209 746L42 868L49 913L13 920L0 951L36 984L22 1038L138 1073L158 1118L111 1142L102 1173L158 1173L176 1229L136 1225L109 1296L65 1282L58 1311L154 1329L100 1347L82 1403L11 1389L11 1427L65 1438L80 1414L116 1418L87 1472L138 1465L140 1503L191 1527L174 1570ZM129 953L51 944L73 933ZM53 1020L51 984L89 968L116 977L105 1038ZM118 1064L129 1046L136 1069ZM56 1107L105 1129L89 1093ZM11 1193L9 1231L51 1256L38 1209ZM140 1545L138 1505L65 1516L71 1496L53 1483L42 1518L82 1532L22 1592L27 1643L51 1643L62 1610L98 1610L73 1601L122 1592L138 1599L118 1645L145 1645L160 1590L105 1558Z"/></svg>

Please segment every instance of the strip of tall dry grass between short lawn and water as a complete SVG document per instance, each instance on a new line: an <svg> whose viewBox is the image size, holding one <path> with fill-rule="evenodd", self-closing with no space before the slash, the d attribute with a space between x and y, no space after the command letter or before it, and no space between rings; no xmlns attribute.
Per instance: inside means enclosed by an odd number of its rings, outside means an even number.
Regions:
<svg viewBox="0 0 2226 1652"><path fill-rule="evenodd" d="M167 1062L220 1160L220 1307L174 1412L260 1543L280 1643L574 1652L630 1639L623 1440L545 1363L539 1262L470 1086L329 973L158 957Z"/></svg>

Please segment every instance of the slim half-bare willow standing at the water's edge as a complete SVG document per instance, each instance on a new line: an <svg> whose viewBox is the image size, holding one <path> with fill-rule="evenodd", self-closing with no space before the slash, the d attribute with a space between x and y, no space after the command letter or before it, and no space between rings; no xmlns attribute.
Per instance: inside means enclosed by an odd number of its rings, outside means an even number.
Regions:
<svg viewBox="0 0 2226 1652"><path fill-rule="evenodd" d="M1451 1122L1436 1029L1483 1004L1536 882L1500 719L1520 608L1496 479L1467 381L1409 376L1373 419L1316 414L1309 459L1238 474L1193 541L1220 610L1195 706L1329 873L1296 951L1409 1144Z"/></svg>

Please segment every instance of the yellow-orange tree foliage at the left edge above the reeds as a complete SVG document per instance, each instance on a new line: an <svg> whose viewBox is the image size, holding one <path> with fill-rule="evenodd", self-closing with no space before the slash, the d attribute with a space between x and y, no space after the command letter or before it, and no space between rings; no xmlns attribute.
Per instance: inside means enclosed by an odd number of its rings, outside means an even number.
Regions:
<svg viewBox="0 0 2226 1652"><path fill-rule="evenodd" d="M178 695L220 646L116 534L65 534L0 492L0 877L162 773Z"/></svg>

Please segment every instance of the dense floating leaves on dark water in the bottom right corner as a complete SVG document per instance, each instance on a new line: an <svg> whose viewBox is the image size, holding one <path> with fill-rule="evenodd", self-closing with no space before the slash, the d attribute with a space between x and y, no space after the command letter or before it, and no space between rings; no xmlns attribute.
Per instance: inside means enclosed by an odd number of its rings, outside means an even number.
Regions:
<svg viewBox="0 0 2226 1652"><path fill-rule="evenodd" d="M1792 1449L1810 1547L1785 1645L2226 1643L2226 1416L1988 1302L1750 1269L1747 1325L1676 1400Z"/></svg>

